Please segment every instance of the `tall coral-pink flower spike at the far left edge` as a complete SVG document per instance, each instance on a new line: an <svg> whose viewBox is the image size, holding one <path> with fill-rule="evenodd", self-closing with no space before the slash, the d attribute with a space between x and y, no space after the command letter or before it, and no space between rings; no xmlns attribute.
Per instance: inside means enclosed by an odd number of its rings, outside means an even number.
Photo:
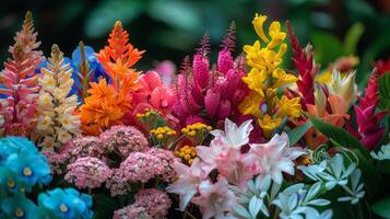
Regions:
<svg viewBox="0 0 390 219"><path fill-rule="evenodd" d="M2 131L12 136L31 136L36 122L38 76L35 70L44 60L42 51L36 50L40 42L36 41L32 13L27 12L22 30L14 37L15 44L9 51L12 58L4 62L0 74L0 93L7 97L0 100L0 115L3 117Z"/></svg>

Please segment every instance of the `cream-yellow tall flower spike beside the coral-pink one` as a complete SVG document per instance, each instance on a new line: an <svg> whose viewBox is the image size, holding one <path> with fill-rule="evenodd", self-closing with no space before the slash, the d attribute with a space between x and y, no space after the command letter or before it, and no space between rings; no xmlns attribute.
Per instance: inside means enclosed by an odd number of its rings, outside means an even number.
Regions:
<svg viewBox="0 0 390 219"><path fill-rule="evenodd" d="M70 95L73 69L55 44L47 66L40 71L37 141L44 148L59 147L80 134L80 116L75 115L78 96Z"/></svg>

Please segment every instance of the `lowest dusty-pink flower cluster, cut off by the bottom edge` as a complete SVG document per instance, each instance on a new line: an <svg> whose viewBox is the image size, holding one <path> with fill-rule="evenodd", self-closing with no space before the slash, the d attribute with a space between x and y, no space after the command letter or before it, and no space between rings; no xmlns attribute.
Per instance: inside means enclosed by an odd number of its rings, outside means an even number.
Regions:
<svg viewBox="0 0 390 219"><path fill-rule="evenodd" d="M133 206L144 208L145 212L155 219L166 218L172 206L168 195L156 188L142 189L135 194L134 199Z"/></svg>

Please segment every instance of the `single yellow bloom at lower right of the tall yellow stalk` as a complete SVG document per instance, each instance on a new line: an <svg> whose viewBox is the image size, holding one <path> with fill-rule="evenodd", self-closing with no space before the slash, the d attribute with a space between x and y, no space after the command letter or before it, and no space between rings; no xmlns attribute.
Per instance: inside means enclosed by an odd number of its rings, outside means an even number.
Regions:
<svg viewBox="0 0 390 219"><path fill-rule="evenodd" d="M289 116L293 118L297 118L300 116L300 99L287 99L287 96L283 95L281 100L277 97L274 99L277 107L277 116L284 117Z"/></svg>

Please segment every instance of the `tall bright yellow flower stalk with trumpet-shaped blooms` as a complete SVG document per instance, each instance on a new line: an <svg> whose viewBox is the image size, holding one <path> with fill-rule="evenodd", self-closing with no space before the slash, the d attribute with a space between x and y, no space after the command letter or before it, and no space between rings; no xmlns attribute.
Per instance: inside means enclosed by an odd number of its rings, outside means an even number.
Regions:
<svg viewBox="0 0 390 219"><path fill-rule="evenodd" d="M297 81L297 78L280 67L287 49L287 45L283 43L286 33L281 30L280 22L274 21L267 36L263 31L265 20L265 15L256 14L252 21L256 33L265 45L261 46L260 41L256 41L253 45L244 46L246 61L251 70L243 81L248 84L250 92L239 105L239 110L244 115L255 116L263 135L271 138L283 118L300 116L300 99L276 96L277 89Z"/></svg>

